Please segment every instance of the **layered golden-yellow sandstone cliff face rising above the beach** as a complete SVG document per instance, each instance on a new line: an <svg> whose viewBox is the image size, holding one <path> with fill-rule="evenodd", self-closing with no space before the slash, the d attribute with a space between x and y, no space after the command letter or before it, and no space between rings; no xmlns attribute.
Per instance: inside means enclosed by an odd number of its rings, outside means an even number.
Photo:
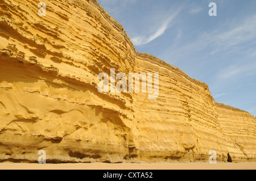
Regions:
<svg viewBox="0 0 256 181"><path fill-rule="evenodd" d="M0 161L255 161L255 117L135 51L96 0L0 2ZM101 72L159 73L159 96L100 93Z"/></svg>

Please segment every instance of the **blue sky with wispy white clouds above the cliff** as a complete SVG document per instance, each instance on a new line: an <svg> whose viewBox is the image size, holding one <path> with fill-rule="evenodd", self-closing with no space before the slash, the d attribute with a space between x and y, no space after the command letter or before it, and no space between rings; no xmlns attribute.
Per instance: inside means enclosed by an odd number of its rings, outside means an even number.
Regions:
<svg viewBox="0 0 256 181"><path fill-rule="evenodd" d="M209 16L210 2L217 16ZM98 0L149 53L207 83L218 103L256 116L255 0Z"/></svg>

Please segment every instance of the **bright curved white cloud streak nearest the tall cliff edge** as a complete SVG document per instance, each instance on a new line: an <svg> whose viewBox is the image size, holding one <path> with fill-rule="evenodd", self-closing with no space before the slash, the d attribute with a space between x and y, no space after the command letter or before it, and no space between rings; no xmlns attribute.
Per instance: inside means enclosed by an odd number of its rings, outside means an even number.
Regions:
<svg viewBox="0 0 256 181"><path fill-rule="evenodd" d="M158 30L152 34L151 36L135 36L133 38L131 38L131 41L133 41L134 45L143 45L143 44L147 44L150 43L151 41L157 39L159 36L164 35L164 32L171 27L171 23L174 21L174 19L176 18L176 16L179 14L180 10L177 10L174 14L172 14L171 16L169 16L169 18L167 18L162 26L160 26L160 28L158 28Z"/></svg>

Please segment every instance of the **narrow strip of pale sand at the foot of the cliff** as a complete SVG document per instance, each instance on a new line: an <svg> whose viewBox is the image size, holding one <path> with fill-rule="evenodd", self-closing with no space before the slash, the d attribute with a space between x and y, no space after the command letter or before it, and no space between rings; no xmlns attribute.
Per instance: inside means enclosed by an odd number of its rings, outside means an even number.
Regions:
<svg viewBox="0 0 256 181"><path fill-rule="evenodd" d="M255 170L256 162L242 163L0 163L1 170Z"/></svg>

